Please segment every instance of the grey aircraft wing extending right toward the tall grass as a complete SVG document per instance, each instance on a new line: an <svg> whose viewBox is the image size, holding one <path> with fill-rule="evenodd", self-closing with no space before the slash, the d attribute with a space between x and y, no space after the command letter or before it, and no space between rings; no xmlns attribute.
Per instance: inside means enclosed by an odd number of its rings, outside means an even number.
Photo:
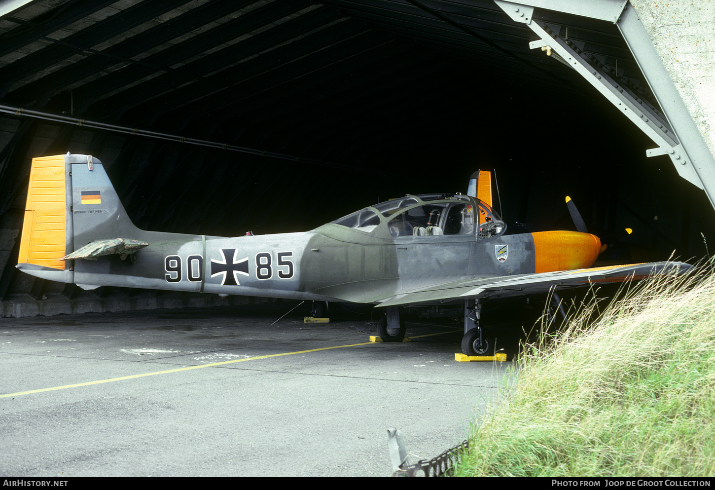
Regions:
<svg viewBox="0 0 715 490"><path fill-rule="evenodd" d="M551 273L504 275L445 283L402 293L380 300L378 306L456 303L469 298L506 298L508 296L548 293L552 288L578 288L598 283L623 283L659 275L681 274L693 266L683 262L651 262L609 265L588 269L561 270Z"/></svg>

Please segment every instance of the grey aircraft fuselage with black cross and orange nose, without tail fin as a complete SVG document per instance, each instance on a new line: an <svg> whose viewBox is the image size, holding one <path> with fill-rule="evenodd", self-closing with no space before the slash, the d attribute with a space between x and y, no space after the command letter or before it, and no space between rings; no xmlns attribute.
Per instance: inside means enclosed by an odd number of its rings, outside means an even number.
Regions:
<svg viewBox="0 0 715 490"><path fill-rule="evenodd" d="M335 224L242 237L142 232L142 239L151 245L135 260L76 260L71 282L374 303L433 284L547 272L537 270L546 261L556 267L551 270L588 267L600 247L598 238L579 232L384 238ZM548 255L539 258L545 240L549 246L541 253Z"/></svg>

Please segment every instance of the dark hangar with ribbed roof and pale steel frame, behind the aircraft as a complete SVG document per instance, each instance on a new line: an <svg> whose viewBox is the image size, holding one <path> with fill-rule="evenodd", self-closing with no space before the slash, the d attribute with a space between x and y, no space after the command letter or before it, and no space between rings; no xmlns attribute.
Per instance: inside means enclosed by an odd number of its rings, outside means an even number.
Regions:
<svg viewBox="0 0 715 490"><path fill-rule="evenodd" d="M570 195L593 232L633 228L603 260L700 258L715 248L715 162L668 73L650 69L638 8L5 1L0 313L88 297L131 308L139 294L14 267L31 158L66 152L104 162L149 230L310 230L408 193L465 192L481 168L515 228L573 229Z"/></svg>

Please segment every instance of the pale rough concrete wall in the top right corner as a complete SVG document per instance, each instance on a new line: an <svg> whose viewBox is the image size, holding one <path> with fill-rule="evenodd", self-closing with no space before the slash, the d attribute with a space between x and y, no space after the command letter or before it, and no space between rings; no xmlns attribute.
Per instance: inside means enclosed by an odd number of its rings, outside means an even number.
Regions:
<svg viewBox="0 0 715 490"><path fill-rule="evenodd" d="M715 155L715 0L631 0Z"/></svg>

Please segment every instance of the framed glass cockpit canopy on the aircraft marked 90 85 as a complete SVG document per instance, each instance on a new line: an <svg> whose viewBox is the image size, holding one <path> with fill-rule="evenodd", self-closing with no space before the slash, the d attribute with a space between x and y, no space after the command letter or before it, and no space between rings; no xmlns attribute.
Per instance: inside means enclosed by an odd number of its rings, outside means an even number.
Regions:
<svg viewBox="0 0 715 490"><path fill-rule="evenodd" d="M390 237L477 235L484 240L506 230L490 206L462 194L406 195L364 207L331 223Z"/></svg>

